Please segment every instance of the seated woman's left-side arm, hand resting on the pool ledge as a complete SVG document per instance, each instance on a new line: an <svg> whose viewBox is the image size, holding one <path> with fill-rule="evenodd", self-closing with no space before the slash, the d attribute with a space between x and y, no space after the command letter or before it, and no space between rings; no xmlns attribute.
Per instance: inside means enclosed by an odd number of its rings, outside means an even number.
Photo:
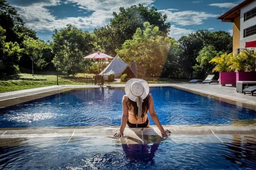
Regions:
<svg viewBox="0 0 256 170"><path fill-rule="evenodd" d="M124 135L124 128L125 128L125 126L127 124L128 116L129 116L129 109L128 109L128 106L126 104L126 100L127 100L127 97L125 95L123 97L123 99L122 99L122 106L123 106L122 122L121 122L121 126L120 126L119 132L114 134L115 137L123 137L123 135Z"/></svg>

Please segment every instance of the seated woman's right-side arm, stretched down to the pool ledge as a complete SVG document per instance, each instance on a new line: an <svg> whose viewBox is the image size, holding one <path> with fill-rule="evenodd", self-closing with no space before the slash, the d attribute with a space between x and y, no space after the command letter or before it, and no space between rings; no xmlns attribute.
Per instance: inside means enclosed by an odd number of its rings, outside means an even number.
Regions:
<svg viewBox="0 0 256 170"><path fill-rule="evenodd" d="M152 120L154 121L154 123L156 124L157 128L160 130L160 132L163 135L169 135L171 132L169 130L164 130L162 124L159 121L159 118L156 114L155 108L154 108L154 100L153 97L150 95L149 97L149 108L148 108L149 114L152 118Z"/></svg>

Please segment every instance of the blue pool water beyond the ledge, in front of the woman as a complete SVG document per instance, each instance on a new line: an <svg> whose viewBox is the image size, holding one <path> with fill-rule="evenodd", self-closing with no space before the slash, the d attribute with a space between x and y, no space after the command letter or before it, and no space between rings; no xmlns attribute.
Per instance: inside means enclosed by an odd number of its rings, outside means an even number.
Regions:
<svg viewBox="0 0 256 170"><path fill-rule="evenodd" d="M229 124L256 118L256 111L171 87L150 88L150 93L162 124ZM123 95L123 88L62 92L0 109L0 127L120 125Z"/></svg>

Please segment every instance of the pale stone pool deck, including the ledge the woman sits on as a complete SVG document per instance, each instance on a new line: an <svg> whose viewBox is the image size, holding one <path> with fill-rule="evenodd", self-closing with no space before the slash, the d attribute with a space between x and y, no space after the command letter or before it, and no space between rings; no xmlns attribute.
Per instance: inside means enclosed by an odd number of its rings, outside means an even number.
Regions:
<svg viewBox="0 0 256 170"><path fill-rule="evenodd" d="M199 95L211 97L217 100L225 101L230 104L245 107L256 111L256 96L250 94L242 94L236 92L235 87L225 87L220 84L189 84L189 83L166 83L166 84L149 84L150 87L175 87L182 90L194 92ZM111 88L111 87L124 87L124 84L115 85L77 85L77 86L50 86L43 88L35 88L28 90L18 90L12 92L0 93L0 108L15 105L25 101L57 94L63 90L69 90L70 88ZM130 139L136 139L135 141L141 141L141 133L143 135L157 135L161 136L158 129L155 126L151 128L145 128L143 132L141 129L125 129L125 134ZM218 139L218 134L229 135L252 135L256 136L256 126L252 125L165 125L164 128L169 129L171 135L179 134L192 134L203 135L211 134L215 135ZM67 137L69 140L73 137L90 137L90 136L109 136L113 138L113 134L119 130L118 126L111 127L53 127L53 128L0 128L0 146L16 146L17 138L39 138L39 137ZM138 139L137 139L138 138ZM114 140L114 139L113 139ZM122 140L121 140L122 141ZM221 141L221 139L220 139ZM126 140L127 142L127 140ZM133 143L134 140L130 140L129 143Z"/></svg>

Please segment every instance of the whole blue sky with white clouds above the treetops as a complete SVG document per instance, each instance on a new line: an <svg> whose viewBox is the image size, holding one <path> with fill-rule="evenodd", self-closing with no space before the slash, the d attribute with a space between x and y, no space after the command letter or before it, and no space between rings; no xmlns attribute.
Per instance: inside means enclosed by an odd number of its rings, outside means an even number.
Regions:
<svg viewBox="0 0 256 170"><path fill-rule="evenodd" d="M181 36L204 29L227 31L232 34L233 25L217 18L241 3L242 0L7 0L15 7L25 26L33 29L41 40L52 41L54 30L60 31L67 24L83 31L107 25L113 12L120 7L142 4L156 7L167 15L170 22L169 36L179 40Z"/></svg>

